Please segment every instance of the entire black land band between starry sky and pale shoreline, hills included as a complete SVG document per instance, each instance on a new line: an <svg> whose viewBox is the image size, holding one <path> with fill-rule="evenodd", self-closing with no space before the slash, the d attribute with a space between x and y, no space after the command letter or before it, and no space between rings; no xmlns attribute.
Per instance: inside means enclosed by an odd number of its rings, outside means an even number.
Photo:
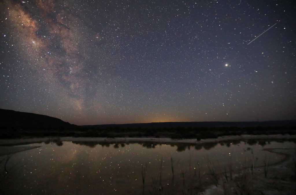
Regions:
<svg viewBox="0 0 296 195"><path fill-rule="evenodd" d="M159 122L78 126L40 114L0 109L1 138L156 137L197 140L225 135L296 134L296 120L264 122Z"/></svg>

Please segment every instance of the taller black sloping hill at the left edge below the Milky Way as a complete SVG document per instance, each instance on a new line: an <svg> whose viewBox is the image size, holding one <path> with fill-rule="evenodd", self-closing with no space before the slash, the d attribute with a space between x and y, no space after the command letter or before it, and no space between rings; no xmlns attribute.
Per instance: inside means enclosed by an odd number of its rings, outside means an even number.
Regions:
<svg viewBox="0 0 296 195"><path fill-rule="evenodd" d="M74 124L41 114L0 109L0 129L72 129Z"/></svg>

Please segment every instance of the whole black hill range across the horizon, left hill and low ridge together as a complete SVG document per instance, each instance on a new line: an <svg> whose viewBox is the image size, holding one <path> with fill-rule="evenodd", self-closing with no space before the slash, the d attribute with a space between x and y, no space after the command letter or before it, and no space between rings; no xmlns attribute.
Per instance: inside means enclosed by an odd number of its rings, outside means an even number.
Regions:
<svg viewBox="0 0 296 195"><path fill-rule="evenodd" d="M77 126L64 122L61 119L49 117L41 114L28 112L17 112L13 110L0 109L0 129L153 129L153 128L213 128L213 127L296 127L296 120L281 121L251 121L251 122L152 122L152 123L133 123L133 124L100 124Z"/></svg>

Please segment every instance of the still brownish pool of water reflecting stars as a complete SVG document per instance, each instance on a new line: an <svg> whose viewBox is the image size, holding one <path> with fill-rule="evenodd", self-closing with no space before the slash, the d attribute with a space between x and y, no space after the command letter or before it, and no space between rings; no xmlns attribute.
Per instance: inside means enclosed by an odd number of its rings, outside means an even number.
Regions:
<svg viewBox="0 0 296 195"><path fill-rule="evenodd" d="M286 158L267 148L295 151L295 142L262 140L197 145L59 141L25 146L41 147L0 156L0 194L153 194L172 189L167 194L182 194L177 183L190 183L194 177L210 183L209 168L218 173L231 167L235 173Z"/></svg>

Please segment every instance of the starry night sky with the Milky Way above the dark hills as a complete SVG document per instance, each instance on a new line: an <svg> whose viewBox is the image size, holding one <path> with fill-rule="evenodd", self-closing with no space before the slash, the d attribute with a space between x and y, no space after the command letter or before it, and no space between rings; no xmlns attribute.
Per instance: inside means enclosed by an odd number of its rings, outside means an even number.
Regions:
<svg viewBox="0 0 296 195"><path fill-rule="evenodd" d="M295 10L2 0L0 108L78 125L296 119Z"/></svg>

